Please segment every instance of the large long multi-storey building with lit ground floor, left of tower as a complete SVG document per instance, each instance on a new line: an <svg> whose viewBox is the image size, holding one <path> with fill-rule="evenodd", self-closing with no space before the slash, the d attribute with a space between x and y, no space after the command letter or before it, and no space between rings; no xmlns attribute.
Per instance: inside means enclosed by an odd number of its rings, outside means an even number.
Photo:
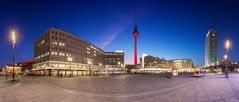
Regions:
<svg viewBox="0 0 239 102"><path fill-rule="evenodd" d="M49 28L35 41L35 74L92 75L104 69L104 51L68 32Z"/></svg>

